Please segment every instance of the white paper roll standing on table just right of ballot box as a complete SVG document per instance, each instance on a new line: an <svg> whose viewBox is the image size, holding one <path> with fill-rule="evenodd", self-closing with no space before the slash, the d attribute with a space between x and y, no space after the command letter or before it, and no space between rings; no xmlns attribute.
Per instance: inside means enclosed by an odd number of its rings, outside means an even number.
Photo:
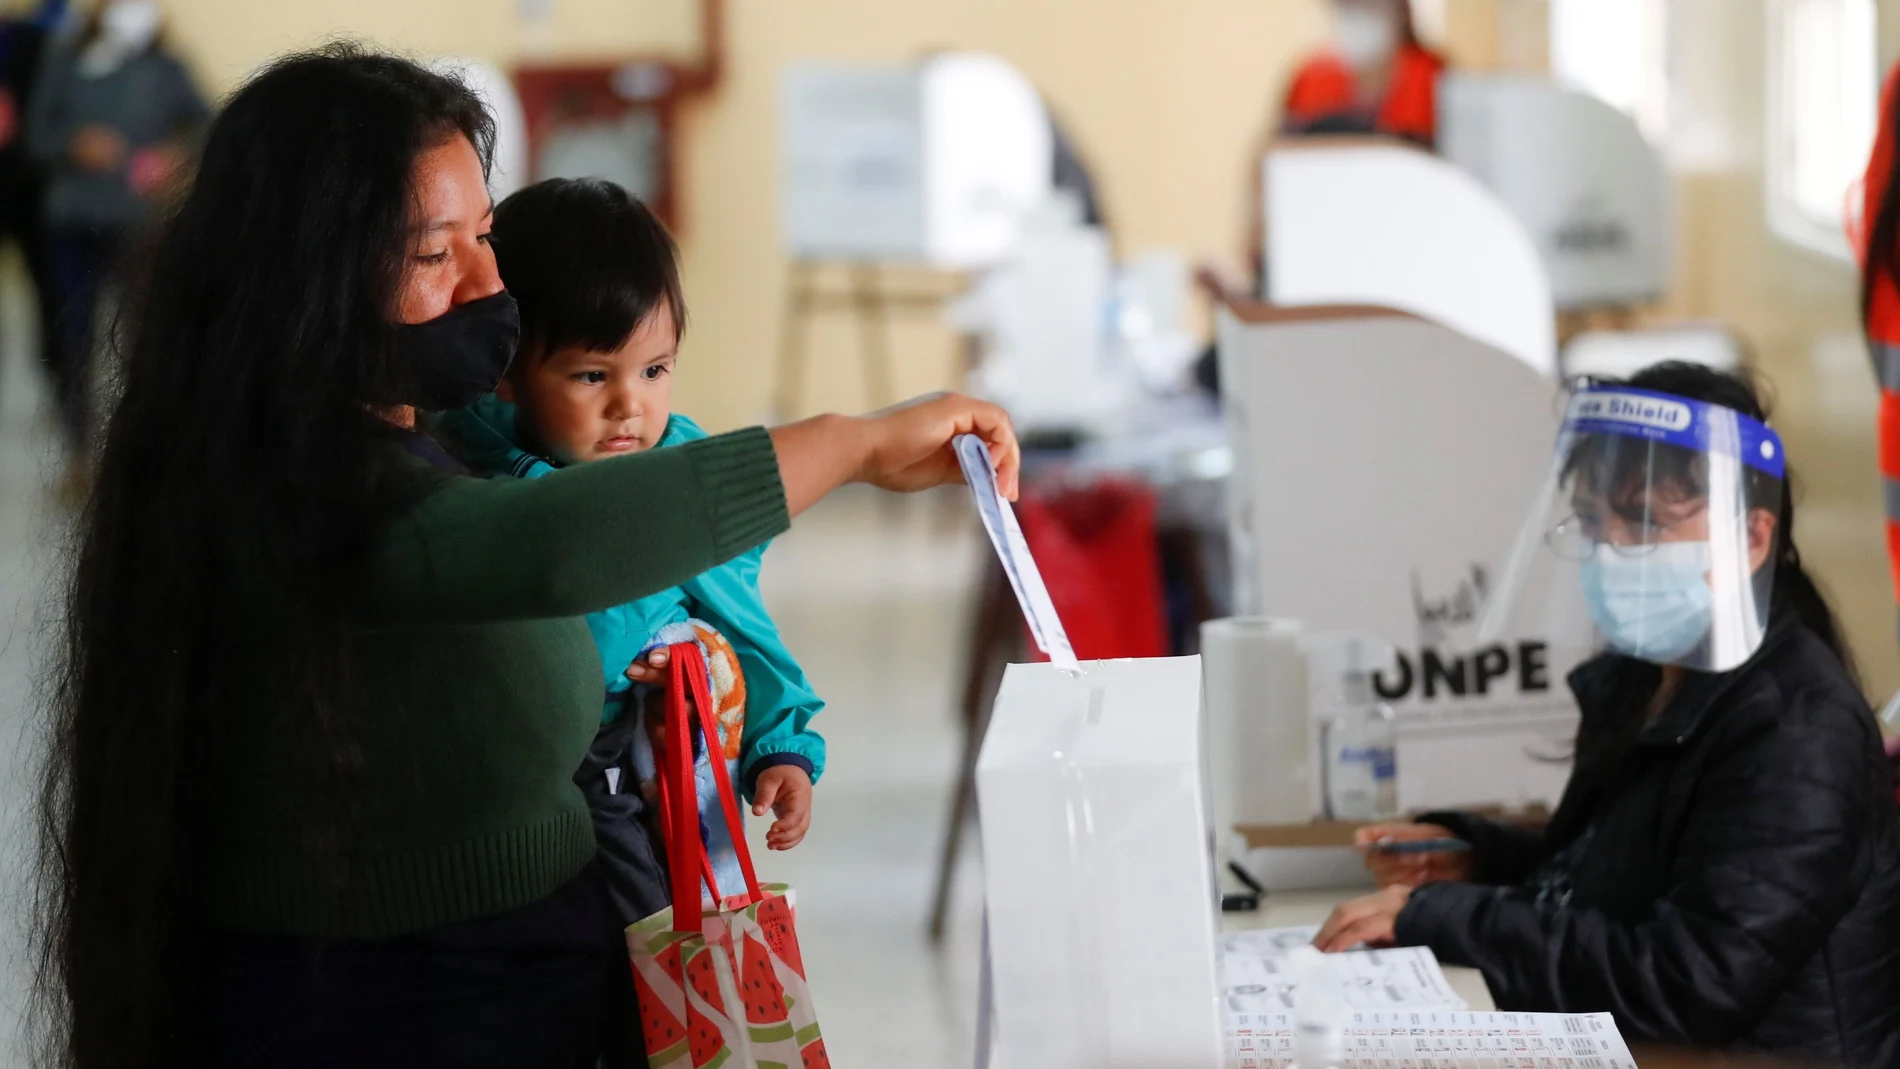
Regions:
<svg viewBox="0 0 1900 1069"><path fill-rule="evenodd" d="M1235 824L1313 818L1313 729L1302 625L1233 617L1201 627L1208 809L1227 856Z"/></svg>

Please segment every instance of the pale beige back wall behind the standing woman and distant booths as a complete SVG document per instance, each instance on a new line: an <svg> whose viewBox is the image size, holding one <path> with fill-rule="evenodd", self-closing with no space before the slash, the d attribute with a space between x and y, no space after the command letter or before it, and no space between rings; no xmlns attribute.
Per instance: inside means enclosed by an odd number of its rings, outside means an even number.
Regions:
<svg viewBox="0 0 1900 1069"><path fill-rule="evenodd" d="M224 91L258 61L329 34L502 65L690 47L686 0L167 0L173 38ZM1041 85L1092 161L1125 251L1237 251L1246 150L1322 0L730 0L726 85L692 104L682 247L694 325L678 404L714 427L768 410L785 264L777 239L779 68L804 57L904 59L980 47ZM644 13L644 15L642 15ZM811 334L806 408L864 404L844 323ZM902 391L954 382L931 319L899 328Z"/></svg>

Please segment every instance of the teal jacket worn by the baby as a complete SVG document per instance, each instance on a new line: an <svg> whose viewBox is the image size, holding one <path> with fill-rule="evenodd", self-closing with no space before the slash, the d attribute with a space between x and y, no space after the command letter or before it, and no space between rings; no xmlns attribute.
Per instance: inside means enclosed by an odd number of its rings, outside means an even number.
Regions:
<svg viewBox="0 0 1900 1069"><path fill-rule="evenodd" d="M522 437L515 427L515 406L505 401L484 397L437 420L435 429L477 475L540 478L557 471L551 459L522 448ZM656 448L705 437L707 433L686 416L673 416ZM627 553L638 551L638 545L627 547ZM739 782L747 794L758 773L771 765L804 767L811 782L825 773L825 737L811 729L811 718L825 708L825 703L811 691L811 682L785 649L779 627L766 611L758 592L758 568L764 556L766 545L760 545L671 591L587 613L587 630L600 649L600 668L606 676L600 723L616 720L627 708L635 685L627 680L627 665L654 646L654 634L661 627L701 619L732 642L745 672Z"/></svg>

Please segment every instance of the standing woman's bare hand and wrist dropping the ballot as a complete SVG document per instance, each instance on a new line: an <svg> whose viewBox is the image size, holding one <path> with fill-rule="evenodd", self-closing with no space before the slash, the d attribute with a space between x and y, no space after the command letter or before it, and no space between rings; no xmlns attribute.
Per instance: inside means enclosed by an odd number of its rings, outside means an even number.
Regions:
<svg viewBox="0 0 1900 1069"><path fill-rule="evenodd" d="M956 393L920 397L870 416L819 416L771 429L787 509L796 516L846 482L929 490L963 478L950 439L977 435L990 448L996 482L1016 497L1022 448L1009 414Z"/></svg>

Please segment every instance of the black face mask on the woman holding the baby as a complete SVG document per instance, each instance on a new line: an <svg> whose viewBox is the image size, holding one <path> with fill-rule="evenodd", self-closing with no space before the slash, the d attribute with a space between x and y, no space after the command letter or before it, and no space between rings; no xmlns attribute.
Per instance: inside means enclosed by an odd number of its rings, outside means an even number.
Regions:
<svg viewBox="0 0 1900 1069"><path fill-rule="evenodd" d="M397 327L408 359L403 404L429 412L466 408L502 382L521 342L521 309L507 291L450 308L428 323Z"/></svg>

